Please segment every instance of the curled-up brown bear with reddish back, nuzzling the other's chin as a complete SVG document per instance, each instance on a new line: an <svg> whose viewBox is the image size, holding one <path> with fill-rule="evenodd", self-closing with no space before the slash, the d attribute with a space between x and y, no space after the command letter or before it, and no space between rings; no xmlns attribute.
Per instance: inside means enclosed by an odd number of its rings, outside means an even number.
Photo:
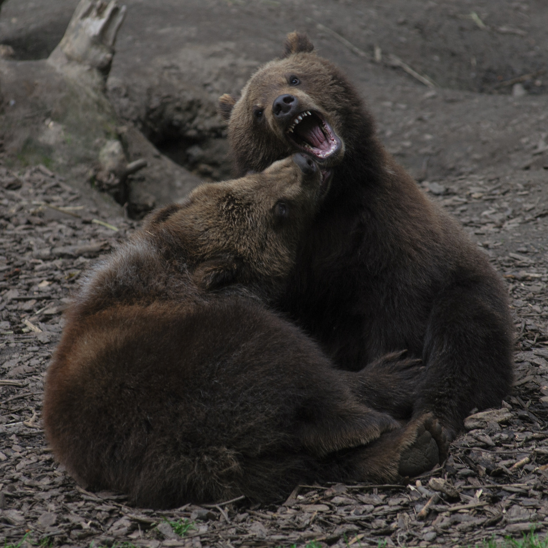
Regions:
<svg viewBox="0 0 548 548"><path fill-rule="evenodd" d="M202 185L95 266L45 382L45 433L78 482L167 508L437 463L435 420L367 407L368 373L335 369L268 307L328 186L301 154ZM397 357L379 362L395 399L422 369Z"/></svg>

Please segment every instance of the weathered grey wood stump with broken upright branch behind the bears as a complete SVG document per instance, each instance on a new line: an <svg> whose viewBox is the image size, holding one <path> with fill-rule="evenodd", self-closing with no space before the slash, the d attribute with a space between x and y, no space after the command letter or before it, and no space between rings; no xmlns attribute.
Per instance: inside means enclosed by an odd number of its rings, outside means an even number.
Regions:
<svg viewBox="0 0 548 548"><path fill-rule="evenodd" d="M199 181L121 126L105 95L124 16L116 0L81 0L48 59L0 59L0 140L8 165L42 163L76 184L91 181L140 216Z"/></svg>

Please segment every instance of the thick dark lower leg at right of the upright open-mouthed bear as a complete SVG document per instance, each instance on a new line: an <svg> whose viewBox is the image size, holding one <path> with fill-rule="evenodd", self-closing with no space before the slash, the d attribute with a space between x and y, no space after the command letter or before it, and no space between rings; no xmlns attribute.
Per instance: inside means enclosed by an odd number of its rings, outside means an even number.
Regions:
<svg viewBox="0 0 548 548"><path fill-rule="evenodd" d="M451 439L472 408L500 406L512 385L513 324L505 288L493 285L447 289L427 326L414 416L432 413Z"/></svg>

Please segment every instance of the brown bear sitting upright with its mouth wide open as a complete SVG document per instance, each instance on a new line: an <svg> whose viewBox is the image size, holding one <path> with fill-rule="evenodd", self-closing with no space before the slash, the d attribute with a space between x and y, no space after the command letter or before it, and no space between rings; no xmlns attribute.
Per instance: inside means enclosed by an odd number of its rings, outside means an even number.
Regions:
<svg viewBox="0 0 548 548"><path fill-rule="evenodd" d="M259 68L238 99L221 96L219 111L237 174L295 151L333 174L277 309L341 369L367 368L398 349L421 358L412 408L379 387L369 401L377 409L431 412L453 438L471 409L499 406L513 376L506 287L386 152L338 68L292 33L283 57Z"/></svg>

